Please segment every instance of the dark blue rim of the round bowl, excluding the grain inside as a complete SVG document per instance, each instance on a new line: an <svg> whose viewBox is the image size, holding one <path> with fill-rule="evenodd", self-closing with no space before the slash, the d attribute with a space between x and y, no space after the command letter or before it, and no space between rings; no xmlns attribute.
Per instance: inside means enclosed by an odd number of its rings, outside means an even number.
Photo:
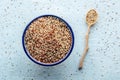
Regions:
<svg viewBox="0 0 120 80"><path fill-rule="evenodd" d="M66 54L66 56L65 56L63 59L59 60L58 62L50 63L50 64L48 64L48 63L42 63L42 62L37 61L36 59L34 59L34 58L29 54L29 52L27 51L27 49L26 49L26 47L25 47L25 41L24 41L26 31L27 31L27 29L29 28L30 24L31 24L33 21L37 20L38 18L46 17L46 16L56 17L56 18L60 19L61 21L63 21L63 22L67 25L68 29L69 29L70 32L71 32L71 36L72 36L72 45L71 45L71 47L70 47L70 50L69 50L68 53ZM73 46L74 46L74 34L73 34L73 31L72 31L70 25L69 25L65 20L63 20L62 18L60 18L60 17L58 17L58 16L55 16L55 15L42 15L42 16L39 16L39 17L33 19L33 20L26 26L26 28L25 28L25 30L24 30L24 32L23 32L23 36L22 36L22 45L23 45L23 49L24 49L26 55L28 56L28 58L29 58L30 60L32 60L33 62L35 62L36 64L39 64L39 65L42 65L42 66L54 66L54 65L60 64L61 62L65 61L65 60L68 58L68 56L71 54L72 49L73 49Z"/></svg>

